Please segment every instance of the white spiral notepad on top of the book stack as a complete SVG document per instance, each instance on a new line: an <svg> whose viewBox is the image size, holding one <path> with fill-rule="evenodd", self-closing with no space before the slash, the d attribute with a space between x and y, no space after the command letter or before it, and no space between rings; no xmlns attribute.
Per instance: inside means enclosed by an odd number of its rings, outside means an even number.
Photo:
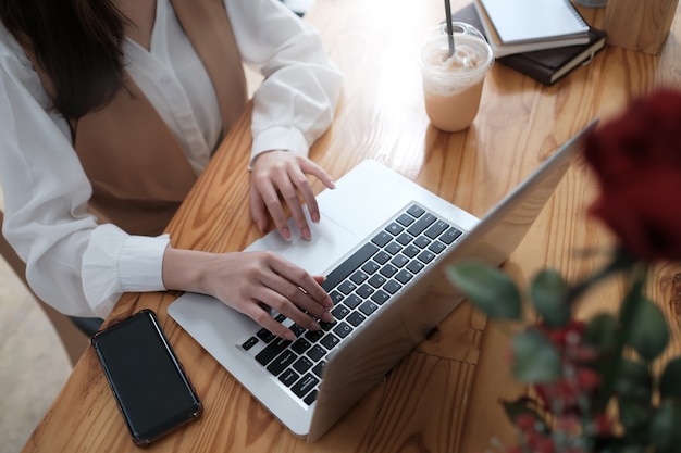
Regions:
<svg viewBox="0 0 681 453"><path fill-rule="evenodd" d="M570 0L479 0L505 43L584 37L589 25Z"/></svg>

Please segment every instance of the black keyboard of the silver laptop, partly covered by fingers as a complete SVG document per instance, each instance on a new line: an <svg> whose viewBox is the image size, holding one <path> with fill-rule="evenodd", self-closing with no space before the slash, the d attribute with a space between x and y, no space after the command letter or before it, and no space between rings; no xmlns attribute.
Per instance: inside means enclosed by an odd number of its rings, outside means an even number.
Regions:
<svg viewBox="0 0 681 453"><path fill-rule="evenodd" d="M310 405L329 354L460 236L458 228L410 203L326 276L322 287L334 302L333 323L312 331L275 313L296 340L261 328L238 347Z"/></svg>

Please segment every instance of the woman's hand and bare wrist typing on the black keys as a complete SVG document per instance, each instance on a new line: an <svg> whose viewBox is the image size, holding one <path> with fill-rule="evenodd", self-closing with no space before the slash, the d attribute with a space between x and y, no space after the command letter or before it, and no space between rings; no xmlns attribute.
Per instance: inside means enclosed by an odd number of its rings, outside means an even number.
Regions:
<svg viewBox="0 0 681 453"><path fill-rule="evenodd" d="M312 277L267 251L218 254L168 248L163 256L165 288L213 295L287 340L295 339L294 332L263 305L300 327L319 330L317 319L333 320L329 312L333 303L321 281L323 277Z"/></svg>

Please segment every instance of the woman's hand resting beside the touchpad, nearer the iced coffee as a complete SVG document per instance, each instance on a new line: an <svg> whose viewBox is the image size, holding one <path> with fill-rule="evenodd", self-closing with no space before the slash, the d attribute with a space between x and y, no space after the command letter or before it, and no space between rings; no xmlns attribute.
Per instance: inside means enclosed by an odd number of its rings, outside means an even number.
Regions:
<svg viewBox="0 0 681 453"><path fill-rule="evenodd" d="M281 150L268 151L256 158L250 180L250 213L261 231L268 228L269 213L282 237L290 239L283 207L286 203L300 236L311 239L302 203L307 204L312 222L319 222L320 213L307 175L317 177L330 189L335 188L331 176L308 158Z"/></svg>

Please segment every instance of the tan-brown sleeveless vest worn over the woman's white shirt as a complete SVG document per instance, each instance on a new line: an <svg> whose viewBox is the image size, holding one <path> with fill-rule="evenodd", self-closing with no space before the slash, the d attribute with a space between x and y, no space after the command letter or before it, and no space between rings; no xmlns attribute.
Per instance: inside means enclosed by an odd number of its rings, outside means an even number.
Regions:
<svg viewBox="0 0 681 453"><path fill-rule="evenodd" d="M223 130L246 104L242 58L223 0L171 0L218 95ZM99 223L129 234L159 235L196 181L179 143L127 77L103 109L74 127L74 148L92 185L89 210Z"/></svg>

